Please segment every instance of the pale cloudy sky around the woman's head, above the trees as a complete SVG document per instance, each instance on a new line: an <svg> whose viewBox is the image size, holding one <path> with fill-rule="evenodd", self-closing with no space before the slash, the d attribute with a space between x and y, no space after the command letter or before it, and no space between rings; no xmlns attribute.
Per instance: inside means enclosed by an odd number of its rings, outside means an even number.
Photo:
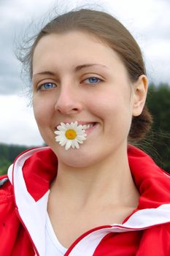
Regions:
<svg viewBox="0 0 170 256"><path fill-rule="evenodd" d="M54 7L63 12L89 2L104 7L131 31L142 48L150 82L170 83L169 0L0 0L0 143L43 143L24 96L16 42L23 34L34 34Z"/></svg>

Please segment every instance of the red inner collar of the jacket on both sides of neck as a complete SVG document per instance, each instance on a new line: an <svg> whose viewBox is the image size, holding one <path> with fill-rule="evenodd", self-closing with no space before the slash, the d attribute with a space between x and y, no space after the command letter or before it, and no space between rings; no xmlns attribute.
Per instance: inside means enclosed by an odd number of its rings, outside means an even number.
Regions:
<svg viewBox="0 0 170 256"><path fill-rule="evenodd" d="M28 192L39 200L50 188L50 183L57 175L58 159L48 148L27 151L28 157L23 163L23 177ZM24 154L20 156L24 157ZM152 158L134 146L128 146L128 162L134 183L140 193L139 206L156 208L163 203L170 203L170 176L155 165Z"/></svg>

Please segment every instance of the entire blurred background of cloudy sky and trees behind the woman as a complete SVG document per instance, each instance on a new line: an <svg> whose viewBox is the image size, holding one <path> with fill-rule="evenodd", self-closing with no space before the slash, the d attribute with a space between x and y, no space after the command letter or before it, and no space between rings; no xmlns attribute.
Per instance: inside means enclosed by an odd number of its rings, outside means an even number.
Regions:
<svg viewBox="0 0 170 256"><path fill-rule="evenodd" d="M44 144L34 120L26 79L15 56L18 43L36 34L55 12L94 7L114 15L139 43L150 81L147 105L154 124L137 146L170 172L170 1L0 0L0 174L24 149Z"/></svg>

